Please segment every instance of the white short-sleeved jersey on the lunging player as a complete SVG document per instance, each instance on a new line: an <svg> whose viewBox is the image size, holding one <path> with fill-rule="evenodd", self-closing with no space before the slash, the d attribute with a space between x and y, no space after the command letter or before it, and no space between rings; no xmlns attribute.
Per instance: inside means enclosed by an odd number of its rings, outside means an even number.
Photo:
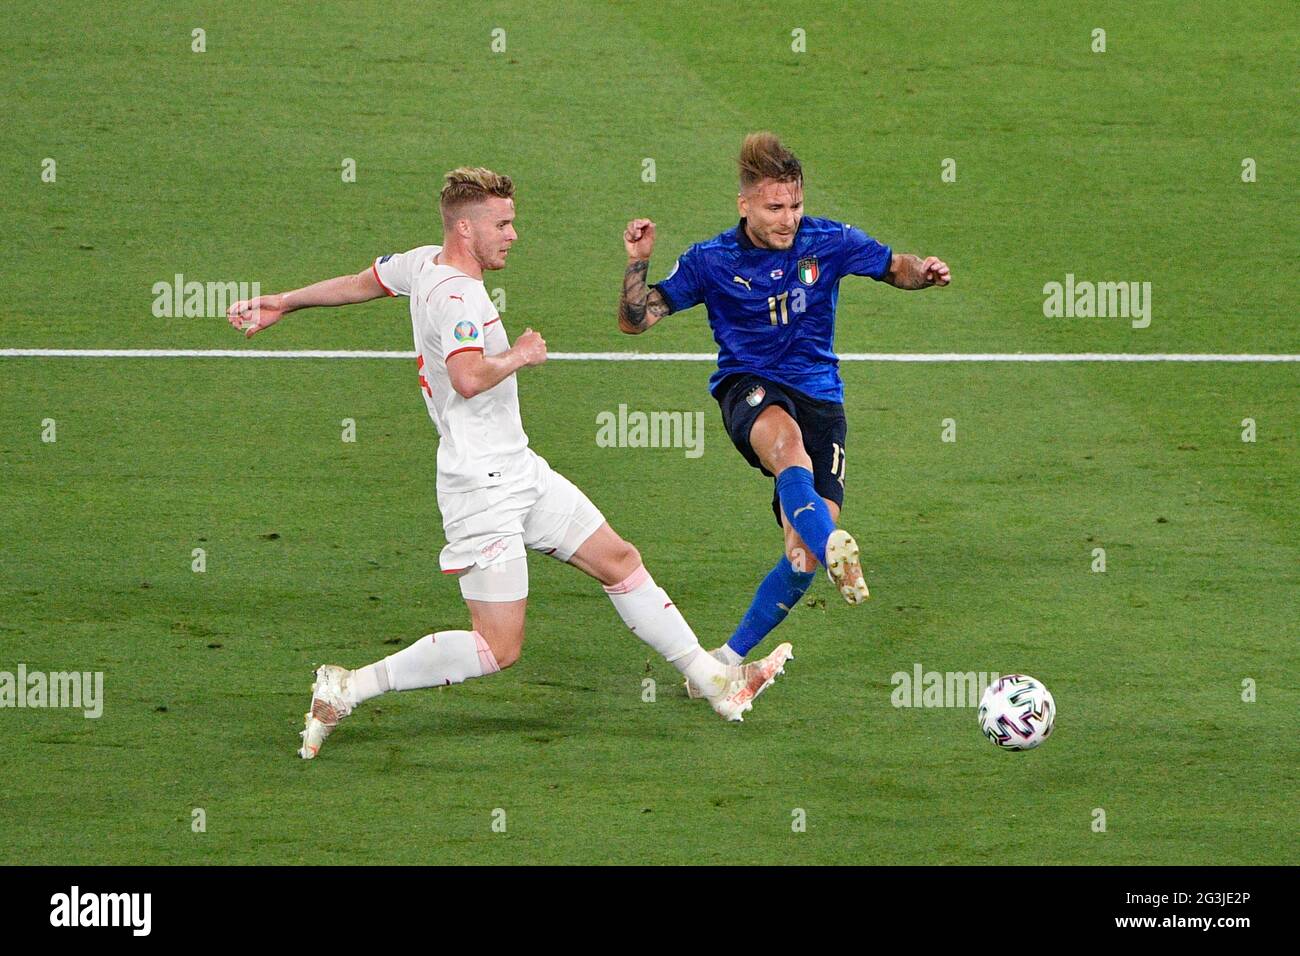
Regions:
<svg viewBox="0 0 1300 956"><path fill-rule="evenodd" d="M438 492L456 493L534 475L536 455L519 415L514 375L473 398L451 388L447 359L458 352L499 355L510 349L482 280L433 261L439 246L382 256L374 276L390 295L411 297L420 389L438 429Z"/></svg>

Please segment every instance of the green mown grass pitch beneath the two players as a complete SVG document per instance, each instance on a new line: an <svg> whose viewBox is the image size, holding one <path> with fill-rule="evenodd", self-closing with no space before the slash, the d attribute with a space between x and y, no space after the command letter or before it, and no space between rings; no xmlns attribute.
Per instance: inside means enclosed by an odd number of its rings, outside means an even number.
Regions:
<svg viewBox="0 0 1300 956"><path fill-rule="evenodd" d="M620 232L660 224L662 277L734 221L734 152L771 127L810 215L953 268L923 294L846 280L842 352L1300 352L1295 5L1089 7L14 13L0 347L244 347L224 320L155 317L153 284L276 291L437 241L439 176L468 163L520 190L488 281L512 333L706 351L702 310L618 333ZM1149 281L1150 326L1044 317L1067 273ZM307 312L251 345L408 350L410 317ZM714 646L780 541L708 371L555 362L520 389L533 446ZM1297 367L844 377L844 522L874 597L814 585L780 631L797 659L744 724L534 557L516 667L374 701L304 762L313 662L468 620L437 570L413 363L0 358L0 671L98 670L107 697L98 721L0 710L0 864L1295 864ZM598 447L619 403L703 411L705 454ZM1056 734L1009 754L971 709L894 708L916 663L1043 679Z"/></svg>

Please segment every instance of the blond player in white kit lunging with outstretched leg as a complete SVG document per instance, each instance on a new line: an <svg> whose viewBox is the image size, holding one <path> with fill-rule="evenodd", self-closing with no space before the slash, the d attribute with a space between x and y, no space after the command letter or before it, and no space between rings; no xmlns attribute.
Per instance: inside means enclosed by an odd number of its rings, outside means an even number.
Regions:
<svg viewBox="0 0 1300 956"><path fill-rule="evenodd" d="M546 362L532 329L515 341L484 289L516 237L515 187L489 169L446 174L445 246L382 256L355 276L234 303L228 317L247 337L287 312L384 295L411 299L420 390L438 429L438 509L447 545L439 563L458 575L471 630L438 631L382 661L316 671L299 754L313 758L361 702L389 691L459 684L519 659L528 604L526 549L555 557L604 585L637 637L706 689L714 710L744 719L792 657L790 645L751 665L728 666L701 650L690 626L601 511L528 446L515 373Z"/></svg>

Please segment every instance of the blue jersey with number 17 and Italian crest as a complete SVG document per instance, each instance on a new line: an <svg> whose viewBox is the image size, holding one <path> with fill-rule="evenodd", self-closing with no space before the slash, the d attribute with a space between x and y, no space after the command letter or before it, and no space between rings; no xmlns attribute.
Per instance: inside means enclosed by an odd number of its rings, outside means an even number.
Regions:
<svg viewBox="0 0 1300 956"><path fill-rule="evenodd" d="M751 372L827 402L844 402L835 304L844 276L884 278L892 251L861 229L805 216L788 250L759 248L734 229L698 242L656 284L680 312L701 302L718 342L708 390Z"/></svg>

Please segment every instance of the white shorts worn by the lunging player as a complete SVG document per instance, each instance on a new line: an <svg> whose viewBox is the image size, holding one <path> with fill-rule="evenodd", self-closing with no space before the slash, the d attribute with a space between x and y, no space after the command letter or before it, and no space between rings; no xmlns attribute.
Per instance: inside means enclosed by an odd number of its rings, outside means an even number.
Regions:
<svg viewBox="0 0 1300 956"><path fill-rule="evenodd" d="M473 492L438 494L447 546L443 574L460 575L471 601L528 597L528 550L568 561L604 523L604 515L545 458L530 455L533 475Z"/></svg>

